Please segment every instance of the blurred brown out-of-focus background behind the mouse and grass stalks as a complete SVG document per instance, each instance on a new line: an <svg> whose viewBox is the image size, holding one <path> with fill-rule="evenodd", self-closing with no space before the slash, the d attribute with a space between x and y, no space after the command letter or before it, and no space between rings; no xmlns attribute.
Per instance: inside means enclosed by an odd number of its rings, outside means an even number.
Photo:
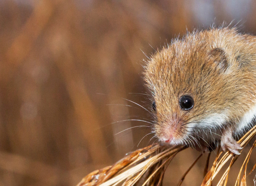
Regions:
<svg viewBox="0 0 256 186"><path fill-rule="evenodd" d="M133 128L152 119L139 106L151 107L143 59L213 23L255 34L255 10L252 0L0 1L0 185L76 185L154 142ZM164 185L198 154L174 158ZM184 185L201 183L204 160Z"/></svg>

